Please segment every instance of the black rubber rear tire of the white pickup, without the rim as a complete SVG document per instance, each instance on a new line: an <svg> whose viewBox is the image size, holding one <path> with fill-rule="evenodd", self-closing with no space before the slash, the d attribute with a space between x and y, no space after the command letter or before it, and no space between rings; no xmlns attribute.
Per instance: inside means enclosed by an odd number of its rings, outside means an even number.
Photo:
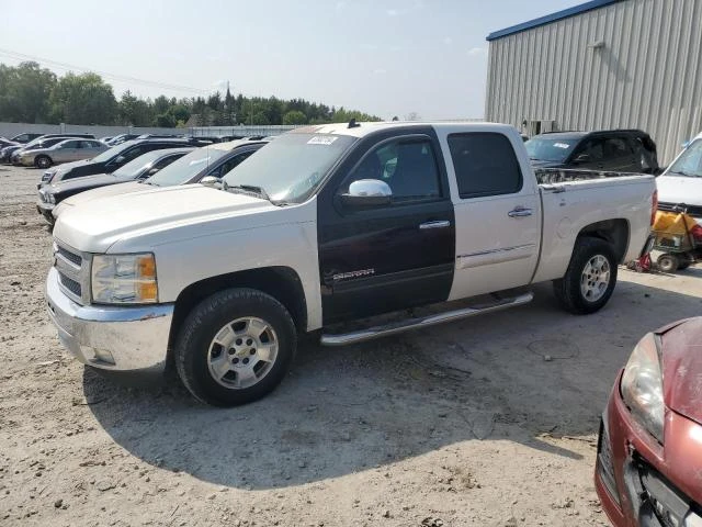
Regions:
<svg viewBox="0 0 702 527"><path fill-rule="evenodd" d="M590 300L584 295L580 281L588 262L602 256L609 265L609 283L601 296ZM588 315L601 310L612 296L614 285L616 285L616 258L612 246L600 238L584 236L577 239L570 264L564 277L554 280L553 290L563 309L577 315Z"/></svg>

